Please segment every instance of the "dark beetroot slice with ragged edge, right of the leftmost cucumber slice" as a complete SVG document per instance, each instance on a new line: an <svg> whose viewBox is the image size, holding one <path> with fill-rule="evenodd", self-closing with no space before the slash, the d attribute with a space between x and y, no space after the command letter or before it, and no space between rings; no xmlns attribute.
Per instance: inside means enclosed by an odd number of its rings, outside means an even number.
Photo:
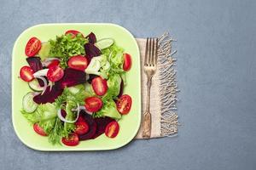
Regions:
<svg viewBox="0 0 256 170"><path fill-rule="evenodd" d="M43 95L36 95L33 98L34 102L37 104L46 104L47 102L53 103L55 102L55 99L63 92L63 89L57 88L56 86L53 86L51 90L49 90L49 88L49 86L46 88Z"/></svg>

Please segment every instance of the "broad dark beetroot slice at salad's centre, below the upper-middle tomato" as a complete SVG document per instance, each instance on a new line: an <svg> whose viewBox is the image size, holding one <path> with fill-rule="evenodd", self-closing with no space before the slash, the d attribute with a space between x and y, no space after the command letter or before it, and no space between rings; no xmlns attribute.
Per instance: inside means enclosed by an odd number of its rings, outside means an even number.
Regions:
<svg viewBox="0 0 256 170"><path fill-rule="evenodd" d="M64 76L55 85L61 89L72 87L86 82L86 74L84 71L78 71L72 68L64 70Z"/></svg>

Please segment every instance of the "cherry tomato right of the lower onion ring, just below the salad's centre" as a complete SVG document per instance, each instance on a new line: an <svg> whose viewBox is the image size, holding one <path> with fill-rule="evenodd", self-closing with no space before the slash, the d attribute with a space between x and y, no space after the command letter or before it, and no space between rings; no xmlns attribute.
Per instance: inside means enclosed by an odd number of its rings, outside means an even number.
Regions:
<svg viewBox="0 0 256 170"><path fill-rule="evenodd" d="M84 106L86 108L87 111L90 112L96 112L99 111L100 109L102 109L102 99L99 99L97 97L89 97L84 99Z"/></svg>

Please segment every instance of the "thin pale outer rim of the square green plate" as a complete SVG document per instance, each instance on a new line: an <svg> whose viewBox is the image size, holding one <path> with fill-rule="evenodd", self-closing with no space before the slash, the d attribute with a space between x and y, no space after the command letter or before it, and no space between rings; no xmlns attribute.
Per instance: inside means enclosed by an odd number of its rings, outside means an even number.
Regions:
<svg viewBox="0 0 256 170"><path fill-rule="evenodd" d="M38 24L38 25L34 25L34 26L30 26L30 27L28 27L28 28L26 28L26 30L24 30L24 31L22 31L21 33L20 33L20 35L16 38L16 40L15 40L15 43L14 43L14 47L13 47L13 50L12 50L12 64L11 64L11 66L12 66L12 69L11 69L11 71L12 71L12 73L11 73L11 83L12 83L12 85L11 85L11 88L12 88L12 90L11 90L11 92L12 92L12 95L11 95L11 97L12 97L12 99L11 99L11 101L12 101L12 105L11 105L11 109L12 109L12 124L13 124L13 127L14 127L14 130L15 130L15 134L16 134L16 136L18 137L18 139L20 139L20 141L23 143L23 144L25 144L28 148L31 148L32 150L39 150L39 151L97 151L97 150L116 150L116 149L119 149L119 148L121 148L121 147L123 147L123 146L125 146L126 144L129 144L130 142L131 142L131 140L132 139L134 139L135 137L136 137L136 135L137 135L137 133L138 133L138 130L139 130L139 127L141 126L141 120L142 120L142 96L141 96L141 89L140 90L138 90L138 95L137 95L137 97L138 97L138 100L139 100L139 102L140 102L140 104L138 105L138 110L139 110L139 113L138 113L138 124L137 124L137 127L135 127L135 131L134 131L134 133L132 133L132 135L131 135L131 138L129 138L129 139L127 139L124 143L122 143L122 144L117 144L116 146L114 146L114 147L109 147L109 148L102 148L102 147L100 147L100 148L87 148L87 149L81 149L81 148L76 148L76 147L68 147L68 146L66 146L66 147L63 147L63 148L50 148L50 149L47 149L47 148L40 148L40 147L37 147L37 146L32 146L32 145L30 145L30 144L27 144L26 143L26 141L25 140L23 140L21 137L20 137L20 133L19 133L19 131L18 131L18 129L17 129L17 127L15 127L15 122L14 122L14 107L15 107L15 105L14 105L14 86L15 86L15 77L14 77L14 66L15 66L15 64L14 64L14 54L15 54L15 48L17 47L17 42L18 42L18 40L20 39L20 37L22 37L23 36L23 34L26 34L26 32L27 31L30 31L30 30L32 30L32 29L34 29L34 28L36 28L36 27L39 27L39 26L55 26L55 25L62 25L62 26L67 26L67 25L76 25L76 26L92 26L92 25L99 25L99 26L101 26L101 25L108 25L108 26L114 26L114 27L118 27L119 29L121 29L121 30L123 30L123 31L125 31L130 37L131 37L131 39L132 39L132 41L134 42L134 44L136 44L136 53L137 53L137 55L138 55L138 58L139 58L139 62L141 61L141 55L140 55L140 50L139 50L139 48L138 48L138 44L137 44L137 41L136 41L136 39L135 39L135 37L131 34L131 32L130 31L128 31L125 27L123 27L123 26L119 26L118 24L113 24L113 23L43 23L43 24ZM139 65L138 65L138 74L139 74L139 84L138 84L138 86L141 88L141 64L139 63Z"/></svg>

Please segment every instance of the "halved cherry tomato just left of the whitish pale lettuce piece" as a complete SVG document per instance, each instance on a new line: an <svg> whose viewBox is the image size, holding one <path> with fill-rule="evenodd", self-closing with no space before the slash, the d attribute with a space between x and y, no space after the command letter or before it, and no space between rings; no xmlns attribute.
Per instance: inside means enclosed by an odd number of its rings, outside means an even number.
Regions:
<svg viewBox="0 0 256 170"><path fill-rule="evenodd" d="M87 68L88 60L83 55L77 55L68 59L67 65L70 68L73 68L79 71L84 71Z"/></svg>

